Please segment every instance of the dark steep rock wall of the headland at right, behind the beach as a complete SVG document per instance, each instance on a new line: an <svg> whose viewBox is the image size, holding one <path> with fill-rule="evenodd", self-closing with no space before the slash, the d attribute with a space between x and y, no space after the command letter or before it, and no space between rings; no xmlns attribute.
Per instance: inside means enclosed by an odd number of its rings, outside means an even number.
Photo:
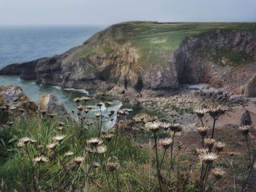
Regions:
<svg viewBox="0 0 256 192"><path fill-rule="evenodd" d="M252 73L256 70L254 64L251 72L248 66L244 72L244 65L241 65L246 63L245 59L256 58L255 45L255 31L218 30L188 37L175 54L178 82L237 88L248 80L246 72ZM246 75L239 78L243 73Z"/></svg>

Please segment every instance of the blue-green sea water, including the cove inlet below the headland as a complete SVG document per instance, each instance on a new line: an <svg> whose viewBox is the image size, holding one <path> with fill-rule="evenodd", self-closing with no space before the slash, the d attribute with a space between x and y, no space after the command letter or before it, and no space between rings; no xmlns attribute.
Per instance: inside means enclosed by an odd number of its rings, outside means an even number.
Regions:
<svg viewBox="0 0 256 192"><path fill-rule="evenodd" d="M20 64L37 58L64 53L82 45L105 26L0 26L0 69L8 64ZM53 93L65 105L69 114L75 108L72 102L77 96L88 94L85 90L61 90L59 87L37 85L33 81L20 80L18 76L0 76L0 85L18 85L37 102L44 93ZM116 107L121 104L116 102Z"/></svg>

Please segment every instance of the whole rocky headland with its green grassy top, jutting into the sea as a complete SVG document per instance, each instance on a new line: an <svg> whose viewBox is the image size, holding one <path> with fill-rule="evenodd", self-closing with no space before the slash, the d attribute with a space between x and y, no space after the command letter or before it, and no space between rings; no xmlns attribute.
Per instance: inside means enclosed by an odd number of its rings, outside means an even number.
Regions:
<svg viewBox="0 0 256 192"><path fill-rule="evenodd" d="M190 31L182 23L121 23L67 53L10 65L0 74L20 74L61 88L140 93L200 82L232 91L256 72L256 25L246 30L201 29L198 24L200 33L189 27Z"/></svg>

